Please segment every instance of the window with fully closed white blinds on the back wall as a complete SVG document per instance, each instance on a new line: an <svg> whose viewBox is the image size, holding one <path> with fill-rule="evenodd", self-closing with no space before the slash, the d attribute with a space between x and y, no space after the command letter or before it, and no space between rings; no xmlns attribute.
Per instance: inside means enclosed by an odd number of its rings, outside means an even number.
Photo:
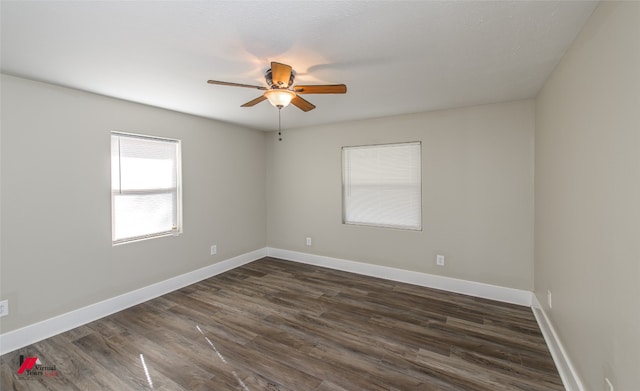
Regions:
<svg viewBox="0 0 640 391"><path fill-rule="evenodd" d="M343 147L343 223L421 230L420 151L420 142Z"/></svg>

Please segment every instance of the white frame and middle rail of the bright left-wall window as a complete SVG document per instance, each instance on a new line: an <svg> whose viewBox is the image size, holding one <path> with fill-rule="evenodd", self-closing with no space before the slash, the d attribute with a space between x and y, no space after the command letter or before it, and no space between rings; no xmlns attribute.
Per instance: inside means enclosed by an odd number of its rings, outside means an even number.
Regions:
<svg viewBox="0 0 640 391"><path fill-rule="evenodd" d="M136 190L125 190L123 194L123 190L120 188L118 190L114 189L113 181L114 181L114 173L113 173L113 151L111 151L111 244L113 246L121 245L125 243L138 242L147 239L161 238L166 236L178 236L183 232L183 224L182 224L182 141L179 139L172 139L167 137L158 137L158 136L150 136L139 133L129 133L122 131L112 131L110 132L110 140L113 140L113 137L125 137L125 138L135 138L142 140L153 140L153 141L161 141L167 143L173 143L176 146L175 151L175 175L176 175L176 187L174 188L148 188L148 189L136 189ZM120 163L118 163L118 168L120 169ZM120 179L120 175L118 176ZM126 238L115 239L116 233L116 206L115 206L115 197L116 193L120 195L160 195L160 194L174 194L174 207L176 214L176 225L172 227L171 230L168 231L159 231L144 235L137 236L129 236Z"/></svg>

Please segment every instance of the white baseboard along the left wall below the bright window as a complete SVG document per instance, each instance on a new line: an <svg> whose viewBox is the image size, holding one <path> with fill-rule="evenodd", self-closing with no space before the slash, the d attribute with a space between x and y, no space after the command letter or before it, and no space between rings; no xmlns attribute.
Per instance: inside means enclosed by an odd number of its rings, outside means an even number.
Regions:
<svg viewBox="0 0 640 391"><path fill-rule="evenodd" d="M0 335L0 355L82 326L267 255L262 248Z"/></svg>

